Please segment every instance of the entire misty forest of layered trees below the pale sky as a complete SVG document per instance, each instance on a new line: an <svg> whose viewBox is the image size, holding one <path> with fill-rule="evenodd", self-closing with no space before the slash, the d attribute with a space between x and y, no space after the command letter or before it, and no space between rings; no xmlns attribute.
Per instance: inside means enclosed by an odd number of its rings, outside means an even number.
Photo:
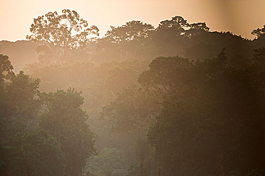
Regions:
<svg viewBox="0 0 265 176"><path fill-rule="evenodd" d="M1 175L265 175L265 25L98 32L63 10L0 42Z"/></svg>

